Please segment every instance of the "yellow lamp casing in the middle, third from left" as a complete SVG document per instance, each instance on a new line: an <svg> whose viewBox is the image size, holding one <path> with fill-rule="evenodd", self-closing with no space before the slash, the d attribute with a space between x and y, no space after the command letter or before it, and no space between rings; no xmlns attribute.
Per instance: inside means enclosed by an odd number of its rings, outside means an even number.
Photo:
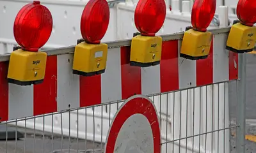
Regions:
<svg viewBox="0 0 256 153"><path fill-rule="evenodd" d="M130 64L147 67L160 63L162 38L160 36L141 36L132 38Z"/></svg>

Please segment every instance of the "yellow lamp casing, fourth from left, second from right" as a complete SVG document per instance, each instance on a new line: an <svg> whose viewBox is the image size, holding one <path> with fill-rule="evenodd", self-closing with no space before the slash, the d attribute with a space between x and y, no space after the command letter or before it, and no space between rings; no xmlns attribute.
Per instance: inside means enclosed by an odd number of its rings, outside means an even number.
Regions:
<svg viewBox="0 0 256 153"><path fill-rule="evenodd" d="M212 42L212 33L206 31L185 31L180 48L180 57L198 60L205 59L209 55Z"/></svg>

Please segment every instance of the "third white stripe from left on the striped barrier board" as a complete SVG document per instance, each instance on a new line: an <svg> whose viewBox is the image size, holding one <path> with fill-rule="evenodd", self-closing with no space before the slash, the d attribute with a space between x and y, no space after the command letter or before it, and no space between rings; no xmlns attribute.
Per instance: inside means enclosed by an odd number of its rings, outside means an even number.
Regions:
<svg viewBox="0 0 256 153"><path fill-rule="evenodd" d="M101 75L102 102L122 99L120 48L108 50L106 71Z"/></svg>

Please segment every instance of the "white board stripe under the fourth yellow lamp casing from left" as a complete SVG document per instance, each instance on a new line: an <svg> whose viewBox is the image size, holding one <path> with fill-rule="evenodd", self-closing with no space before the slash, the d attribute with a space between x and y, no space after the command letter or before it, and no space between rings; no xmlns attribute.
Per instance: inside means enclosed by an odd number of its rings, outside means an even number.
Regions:
<svg viewBox="0 0 256 153"><path fill-rule="evenodd" d="M181 40L178 41L179 89L196 86L196 61L180 57Z"/></svg>

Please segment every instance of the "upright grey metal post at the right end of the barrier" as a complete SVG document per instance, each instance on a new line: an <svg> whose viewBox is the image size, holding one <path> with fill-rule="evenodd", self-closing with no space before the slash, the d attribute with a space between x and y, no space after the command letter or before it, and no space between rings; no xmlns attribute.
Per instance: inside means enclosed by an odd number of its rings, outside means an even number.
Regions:
<svg viewBox="0 0 256 153"><path fill-rule="evenodd" d="M238 56L238 99L237 99L237 151L245 152L245 100L246 100L246 54Z"/></svg>

